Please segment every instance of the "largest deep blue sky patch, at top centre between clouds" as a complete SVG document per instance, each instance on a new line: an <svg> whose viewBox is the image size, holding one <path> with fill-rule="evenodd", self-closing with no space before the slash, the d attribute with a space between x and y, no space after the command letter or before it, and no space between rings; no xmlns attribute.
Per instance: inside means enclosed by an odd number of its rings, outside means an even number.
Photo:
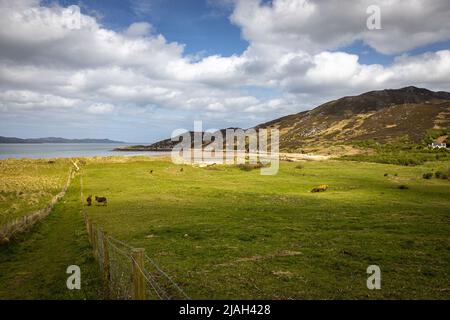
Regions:
<svg viewBox="0 0 450 320"><path fill-rule="evenodd" d="M46 5L54 0L46 0ZM170 42L185 44L187 55L241 54L248 42L231 24L232 7L214 0L60 0L60 5L79 5L86 14L100 17L107 28L123 30L136 21L153 25Z"/></svg>

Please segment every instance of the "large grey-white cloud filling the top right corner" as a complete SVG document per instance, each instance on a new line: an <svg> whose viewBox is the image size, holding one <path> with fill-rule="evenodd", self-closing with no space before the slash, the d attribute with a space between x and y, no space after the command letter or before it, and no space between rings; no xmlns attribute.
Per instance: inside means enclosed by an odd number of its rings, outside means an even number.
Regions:
<svg viewBox="0 0 450 320"><path fill-rule="evenodd" d="M368 30L366 9L381 9L382 30ZM450 40L447 0L237 0L231 21L253 44L318 53L362 40L392 54Z"/></svg>

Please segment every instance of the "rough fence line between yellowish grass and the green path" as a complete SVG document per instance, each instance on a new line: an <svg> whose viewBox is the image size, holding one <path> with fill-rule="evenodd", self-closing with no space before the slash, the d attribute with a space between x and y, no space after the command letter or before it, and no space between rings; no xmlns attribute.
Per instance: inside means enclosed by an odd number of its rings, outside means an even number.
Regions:
<svg viewBox="0 0 450 320"><path fill-rule="evenodd" d="M77 171L73 167L70 167L69 177L63 189L50 200L45 208L0 226L0 246L8 244L18 235L30 231L38 222L44 220L52 212L55 205L66 195L67 189Z"/></svg>

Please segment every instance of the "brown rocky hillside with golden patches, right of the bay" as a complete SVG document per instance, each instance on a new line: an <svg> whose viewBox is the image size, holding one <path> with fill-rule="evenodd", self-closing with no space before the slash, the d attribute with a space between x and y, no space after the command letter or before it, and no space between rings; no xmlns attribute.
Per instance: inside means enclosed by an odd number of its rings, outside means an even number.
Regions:
<svg viewBox="0 0 450 320"><path fill-rule="evenodd" d="M371 91L256 128L278 128L284 150L369 139L383 143L401 137L420 142L431 129L450 129L450 93L416 87Z"/></svg>

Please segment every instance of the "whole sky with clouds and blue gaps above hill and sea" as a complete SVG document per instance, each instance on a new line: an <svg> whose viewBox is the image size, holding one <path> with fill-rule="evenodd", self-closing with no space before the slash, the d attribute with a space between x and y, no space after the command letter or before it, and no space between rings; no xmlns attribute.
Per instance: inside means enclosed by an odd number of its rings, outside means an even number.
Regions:
<svg viewBox="0 0 450 320"><path fill-rule="evenodd" d="M448 0L0 0L3 136L152 142L409 85L450 91Z"/></svg>

